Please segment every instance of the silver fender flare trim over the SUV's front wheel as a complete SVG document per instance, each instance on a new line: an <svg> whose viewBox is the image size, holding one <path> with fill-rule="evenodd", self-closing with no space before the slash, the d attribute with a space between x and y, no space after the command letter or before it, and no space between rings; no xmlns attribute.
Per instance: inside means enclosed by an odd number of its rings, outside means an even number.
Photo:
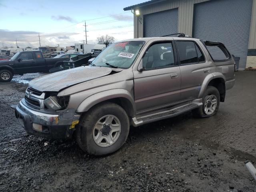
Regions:
<svg viewBox="0 0 256 192"><path fill-rule="evenodd" d="M106 100L114 99L114 98L124 98L128 100L132 106L132 109L130 109L131 110L130 115L133 116L135 114L136 106L135 106L134 98L130 94L130 92L128 92L125 89L111 89L111 90L106 90L106 91L93 94L80 103L76 112L78 113L86 112L90 108L92 108L94 105Z"/></svg>

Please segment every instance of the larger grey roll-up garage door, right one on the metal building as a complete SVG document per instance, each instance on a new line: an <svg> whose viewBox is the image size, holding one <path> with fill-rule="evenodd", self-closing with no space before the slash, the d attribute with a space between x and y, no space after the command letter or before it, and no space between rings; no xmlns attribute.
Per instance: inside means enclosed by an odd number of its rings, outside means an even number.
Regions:
<svg viewBox="0 0 256 192"><path fill-rule="evenodd" d="M252 0L211 0L194 5L193 36L225 44L246 67Z"/></svg>

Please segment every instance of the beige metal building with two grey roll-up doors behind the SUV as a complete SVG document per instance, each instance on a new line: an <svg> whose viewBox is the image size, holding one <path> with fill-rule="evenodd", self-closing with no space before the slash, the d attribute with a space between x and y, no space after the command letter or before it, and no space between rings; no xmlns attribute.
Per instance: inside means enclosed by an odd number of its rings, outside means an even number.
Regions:
<svg viewBox="0 0 256 192"><path fill-rule="evenodd" d="M246 67L256 50L256 0L151 0L124 8L134 14L134 38L184 33L219 41ZM256 51L253 51L256 52Z"/></svg>

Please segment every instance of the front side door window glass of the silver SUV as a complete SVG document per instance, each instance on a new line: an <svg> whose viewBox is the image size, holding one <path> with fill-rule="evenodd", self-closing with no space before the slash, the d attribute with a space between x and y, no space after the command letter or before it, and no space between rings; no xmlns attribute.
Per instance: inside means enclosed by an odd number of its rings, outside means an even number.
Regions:
<svg viewBox="0 0 256 192"><path fill-rule="evenodd" d="M171 42L153 44L148 48L142 59L146 69L175 65Z"/></svg>

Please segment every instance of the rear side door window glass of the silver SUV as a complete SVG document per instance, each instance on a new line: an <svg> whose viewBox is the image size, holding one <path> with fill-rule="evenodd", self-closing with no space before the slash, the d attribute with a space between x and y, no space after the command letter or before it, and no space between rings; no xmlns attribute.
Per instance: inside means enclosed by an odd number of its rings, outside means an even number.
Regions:
<svg viewBox="0 0 256 192"><path fill-rule="evenodd" d="M192 41L177 41L180 64L198 62L196 47Z"/></svg>

